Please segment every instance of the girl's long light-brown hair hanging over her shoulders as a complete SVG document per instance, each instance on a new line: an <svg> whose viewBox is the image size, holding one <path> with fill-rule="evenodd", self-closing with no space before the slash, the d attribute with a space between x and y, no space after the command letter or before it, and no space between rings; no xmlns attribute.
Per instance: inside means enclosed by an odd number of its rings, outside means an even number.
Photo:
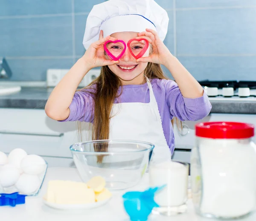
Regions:
<svg viewBox="0 0 256 221"><path fill-rule="evenodd" d="M149 62L145 68L144 75L145 77L148 77L148 79L168 79L164 75L160 64L151 62ZM111 108L114 100L122 93L121 90L121 93L118 94L118 89L121 85L122 83L120 79L109 69L109 67L103 66L99 77L86 87L93 88L93 90L90 90L94 99L92 140L108 140ZM182 125L180 120L175 117L172 119L172 125L174 125L174 122L176 122L178 128L181 128ZM94 148L95 151L98 152L105 152L108 150L108 146L102 144L94 145ZM98 159L98 162L100 161L102 161L102 159Z"/></svg>

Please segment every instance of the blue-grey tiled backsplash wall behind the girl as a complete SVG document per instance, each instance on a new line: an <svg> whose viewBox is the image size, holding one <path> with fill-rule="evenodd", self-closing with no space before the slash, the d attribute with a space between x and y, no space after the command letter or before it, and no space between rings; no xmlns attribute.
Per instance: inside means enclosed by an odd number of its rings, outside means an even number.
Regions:
<svg viewBox="0 0 256 221"><path fill-rule="evenodd" d="M86 18L103 0L1 0L0 57L13 81L45 81L84 53ZM198 80L256 80L256 0L156 0L165 44ZM169 77L171 76L168 74Z"/></svg>

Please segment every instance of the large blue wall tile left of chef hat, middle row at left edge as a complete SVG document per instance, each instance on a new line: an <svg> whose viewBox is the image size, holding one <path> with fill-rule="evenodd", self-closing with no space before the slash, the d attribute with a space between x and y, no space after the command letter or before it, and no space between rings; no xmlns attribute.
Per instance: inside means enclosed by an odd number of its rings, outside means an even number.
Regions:
<svg viewBox="0 0 256 221"><path fill-rule="evenodd" d="M72 55L72 18L0 20L0 53L7 57Z"/></svg>

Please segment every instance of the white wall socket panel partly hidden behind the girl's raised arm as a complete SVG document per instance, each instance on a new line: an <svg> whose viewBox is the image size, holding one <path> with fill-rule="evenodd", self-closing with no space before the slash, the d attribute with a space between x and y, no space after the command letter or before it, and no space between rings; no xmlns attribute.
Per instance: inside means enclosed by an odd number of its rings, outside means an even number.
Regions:
<svg viewBox="0 0 256 221"><path fill-rule="evenodd" d="M47 87L55 87L64 77L69 69L48 69L47 70ZM100 74L100 69L91 69L81 80L79 87L86 87L90 82L96 79Z"/></svg>

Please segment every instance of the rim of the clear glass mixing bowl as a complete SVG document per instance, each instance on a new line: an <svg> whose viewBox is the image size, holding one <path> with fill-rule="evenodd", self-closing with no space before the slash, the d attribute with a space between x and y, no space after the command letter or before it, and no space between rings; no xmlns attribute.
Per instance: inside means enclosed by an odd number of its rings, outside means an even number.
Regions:
<svg viewBox="0 0 256 221"><path fill-rule="evenodd" d="M81 146L85 144L92 144L92 143L131 143L131 144L145 144L150 146L149 148L145 148L143 150L135 150L135 151L123 151L123 152L91 152L91 151L79 151L74 149L76 146ZM85 141L85 142L78 142L74 143L73 145L70 146L70 151L78 154L91 154L91 155L119 155L119 154L131 154L131 153L140 153L144 151L151 151L155 147L154 144L150 142L143 142L143 141L138 141L138 140L91 140L91 141Z"/></svg>

